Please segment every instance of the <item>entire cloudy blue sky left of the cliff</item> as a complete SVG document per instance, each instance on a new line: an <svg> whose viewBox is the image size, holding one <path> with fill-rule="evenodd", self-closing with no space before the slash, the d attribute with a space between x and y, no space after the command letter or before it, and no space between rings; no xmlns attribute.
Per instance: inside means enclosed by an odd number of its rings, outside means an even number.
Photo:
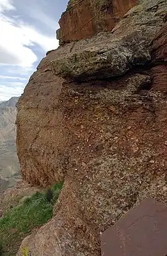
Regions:
<svg viewBox="0 0 167 256"><path fill-rule="evenodd" d="M48 50L67 0L0 0L0 101L20 96Z"/></svg>

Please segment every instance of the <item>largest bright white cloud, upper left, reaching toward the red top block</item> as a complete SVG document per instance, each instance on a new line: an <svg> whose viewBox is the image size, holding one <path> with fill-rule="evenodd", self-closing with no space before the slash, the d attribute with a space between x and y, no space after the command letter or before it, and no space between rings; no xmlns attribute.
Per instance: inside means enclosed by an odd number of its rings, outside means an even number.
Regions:
<svg viewBox="0 0 167 256"><path fill-rule="evenodd" d="M8 17L3 10L15 10L9 0L0 0L0 64L30 67L37 61L33 44L38 44L45 52L58 47L55 37L42 34L35 27L25 24L17 17Z"/></svg>

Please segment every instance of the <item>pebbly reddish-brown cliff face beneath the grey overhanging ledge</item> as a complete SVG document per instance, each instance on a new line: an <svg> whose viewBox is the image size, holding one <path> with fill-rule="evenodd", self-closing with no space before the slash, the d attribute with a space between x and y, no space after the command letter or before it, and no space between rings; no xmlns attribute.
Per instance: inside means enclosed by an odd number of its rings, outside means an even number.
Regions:
<svg viewBox="0 0 167 256"><path fill-rule="evenodd" d="M65 81L49 62L70 52L67 44L31 77L17 115L22 174L43 186L65 178L54 218L22 243L32 255L100 256L100 232L132 206L147 197L167 203L165 31L153 41L153 68Z"/></svg>

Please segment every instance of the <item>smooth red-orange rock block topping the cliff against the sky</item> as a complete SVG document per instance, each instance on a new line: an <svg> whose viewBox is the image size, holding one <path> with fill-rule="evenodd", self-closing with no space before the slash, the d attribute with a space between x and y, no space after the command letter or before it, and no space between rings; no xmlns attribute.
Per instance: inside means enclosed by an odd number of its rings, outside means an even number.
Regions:
<svg viewBox="0 0 167 256"><path fill-rule="evenodd" d="M101 31L111 31L136 0L72 1L59 21L61 43L89 38Z"/></svg>

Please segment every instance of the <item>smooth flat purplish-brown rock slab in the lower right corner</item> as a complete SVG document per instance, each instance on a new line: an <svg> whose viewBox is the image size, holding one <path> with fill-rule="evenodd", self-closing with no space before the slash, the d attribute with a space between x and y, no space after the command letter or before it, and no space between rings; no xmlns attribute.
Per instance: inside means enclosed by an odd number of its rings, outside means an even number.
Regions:
<svg viewBox="0 0 167 256"><path fill-rule="evenodd" d="M102 234L102 255L166 255L166 236L166 205L145 199Z"/></svg>

